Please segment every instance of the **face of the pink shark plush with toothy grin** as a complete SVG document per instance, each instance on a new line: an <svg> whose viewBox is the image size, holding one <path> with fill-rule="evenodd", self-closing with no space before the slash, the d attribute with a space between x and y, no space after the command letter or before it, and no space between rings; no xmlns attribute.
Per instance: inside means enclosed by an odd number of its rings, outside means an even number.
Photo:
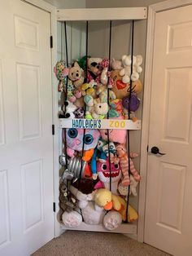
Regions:
<svg viewBox="0 0 192 256"><path fill-rule="evenodd" d="M110 183L110 164L108 157L105 163L97 162L98 178L103 183ZM111 163L111 182L119 181L121 178L121 171L119 164Z"/></svg>

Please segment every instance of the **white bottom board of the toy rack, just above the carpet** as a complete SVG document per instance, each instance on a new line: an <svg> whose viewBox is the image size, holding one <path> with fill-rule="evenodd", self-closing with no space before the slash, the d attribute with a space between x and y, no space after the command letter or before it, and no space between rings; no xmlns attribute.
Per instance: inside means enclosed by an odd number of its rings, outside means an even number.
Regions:
<svg viewBox="0 0 192 256"><path fill-rule="evenodd" d="M111 232L111 233L123 233L123 234L137 234L137 224L132 223L123 223L120 227L117 227L115 230L107 230L103 227L103 224L98 225L89 225L86 223L81 223L79 227L70 228L61 224L63 230L79 230L79 231L92 231L92 232Z"/></svg>

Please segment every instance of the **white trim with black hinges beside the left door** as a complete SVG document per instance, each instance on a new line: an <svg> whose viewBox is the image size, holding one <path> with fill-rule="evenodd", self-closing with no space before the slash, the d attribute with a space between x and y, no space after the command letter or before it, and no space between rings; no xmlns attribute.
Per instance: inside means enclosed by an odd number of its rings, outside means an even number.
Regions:
<svg viewBox="0 0 192 256"><path fill-rule="evenodd" d="M57 220L57 213L59 212L59 119L58 119L58 92L57 79L54 76L54 66L57 62L57 17L56 7L42 0L21 0L28 2L33 6L39 7L44 11L50 13L50 33L53 37L53 48L51 49L51 82L52 82L52 104L53 104L53 124L55 124L55 136L53 136L53 183L54 183L54 198L55 198L55 237L59 236L62 232L60 224ZM49 40L49 38L47 38Z"/></svg>

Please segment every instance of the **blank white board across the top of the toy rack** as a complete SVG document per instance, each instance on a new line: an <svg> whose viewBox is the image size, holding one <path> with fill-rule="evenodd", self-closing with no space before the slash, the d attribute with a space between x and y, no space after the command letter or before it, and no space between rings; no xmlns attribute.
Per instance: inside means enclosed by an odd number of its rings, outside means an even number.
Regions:
<svg viewBox="0 0 192 256"><path fill-rule="evenodd" d="M145 20L146 7L57 9L57 20Z"/></svg>

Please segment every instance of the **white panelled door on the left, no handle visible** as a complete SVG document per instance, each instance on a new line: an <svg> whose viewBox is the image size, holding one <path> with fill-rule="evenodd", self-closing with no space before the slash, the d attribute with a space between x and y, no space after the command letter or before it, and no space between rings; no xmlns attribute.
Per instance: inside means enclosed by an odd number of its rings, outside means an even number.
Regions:
<svg viewBox="0 0 192 256"><path fill-rule="evenodd" d="M50 14L0 3L0 255L54 236Z"/></svg>

